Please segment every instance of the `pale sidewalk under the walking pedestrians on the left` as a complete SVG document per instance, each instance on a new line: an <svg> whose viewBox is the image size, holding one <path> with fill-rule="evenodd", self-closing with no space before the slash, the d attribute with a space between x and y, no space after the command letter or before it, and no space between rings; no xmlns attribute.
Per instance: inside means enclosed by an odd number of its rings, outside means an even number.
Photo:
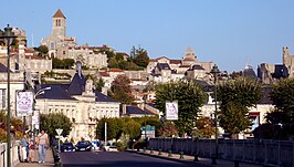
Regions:
<svg viewBox="0 0 294 167"><path fill-rule="evenodd" d="M34 150L34 161L33 163L19 163L17 167L38 167L38 166L44 166L44 167L53 167L54 166L54 159L52 155L52 149L46 149L46 157L44 164L38 163L38 149Z"/></svg>

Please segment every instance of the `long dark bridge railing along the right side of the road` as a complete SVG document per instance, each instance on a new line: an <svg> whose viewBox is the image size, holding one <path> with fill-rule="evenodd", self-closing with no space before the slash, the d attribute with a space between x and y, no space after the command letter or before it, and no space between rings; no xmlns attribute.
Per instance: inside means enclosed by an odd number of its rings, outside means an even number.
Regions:
<svg viewBox="0 0 294 167"><path fill-rule="evenodd" d="M150 138L149 149L213 157L214 139ZM294 142L258 139L219 139L218 156L221 159L239 160L283 167L294 166Z"/></svg>

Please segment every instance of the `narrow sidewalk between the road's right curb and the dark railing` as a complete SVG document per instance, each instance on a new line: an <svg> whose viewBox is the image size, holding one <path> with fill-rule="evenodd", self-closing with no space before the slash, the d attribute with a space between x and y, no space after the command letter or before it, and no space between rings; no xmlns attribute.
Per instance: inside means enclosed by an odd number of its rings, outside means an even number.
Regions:
<svg viewBox="0 0 294 167"><path fill-rule="evenodd" d="M137 150L128 150L128 152L153 156L157 158L181 161L185 164L189 164L191 166L200 166L200 167L234 167L235 165L234 161L224 160L224 159L217 159L217 165L211 165L212 160L210 158L198 158L199 161L195 161L193 156L183 155L182 158L180 158L179 154L171 154L171 156L169 156L168 153L161 152L161 155L159 155L158 150L153 150L153 153L148 149L146 149L145 153L143 149L140 149L139 152ZM263 166L249 164L249 163L239 163L239 167L263 167Z"/></svg>

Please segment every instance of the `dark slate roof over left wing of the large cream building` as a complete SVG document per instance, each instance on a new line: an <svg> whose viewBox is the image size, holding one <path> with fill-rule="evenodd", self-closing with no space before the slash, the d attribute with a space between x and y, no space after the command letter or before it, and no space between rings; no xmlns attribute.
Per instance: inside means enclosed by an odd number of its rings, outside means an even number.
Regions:
<svg viewBox="0 0 294 167"><path fill-rule="evenodd" d="M74 100L66 88L69 84L43 84L40 88L51 87L51 90L44 91L44 94L36 95L35 98L48 98L48 100ZM40 90L39 88L39 90ZM38 91L39 91L38 90Z"/></svg>

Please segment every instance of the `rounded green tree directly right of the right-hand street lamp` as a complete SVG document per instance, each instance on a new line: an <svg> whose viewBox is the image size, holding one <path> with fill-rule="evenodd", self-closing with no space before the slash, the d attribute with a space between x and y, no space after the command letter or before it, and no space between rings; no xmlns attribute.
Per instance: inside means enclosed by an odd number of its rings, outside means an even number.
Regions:
<svg viewBox="0 0 294 167"><path fill-rule="evenodd" d="M218 101L221 103L218 115L224 132L232 136L249 128L249 107L254 106L260 97L261 85L255 80L243 77L220 84Z"/></svg>

